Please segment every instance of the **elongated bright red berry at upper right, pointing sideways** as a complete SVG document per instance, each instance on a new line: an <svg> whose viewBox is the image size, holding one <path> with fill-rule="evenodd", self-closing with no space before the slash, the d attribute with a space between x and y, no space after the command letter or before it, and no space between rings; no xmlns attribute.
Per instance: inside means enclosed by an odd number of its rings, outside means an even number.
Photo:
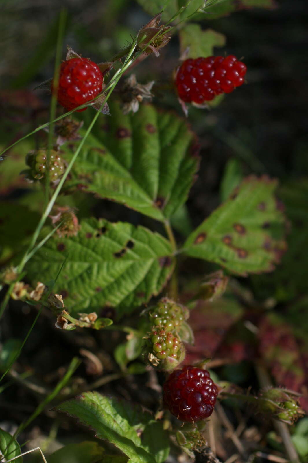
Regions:
<svg viewBox="0 0 308 463"><path fill-rule="evenodd" d="M231 93L244 83L246 70L246 65L234 55L187 59L175 78L179 98L202 104L216 95Z"/></svg>

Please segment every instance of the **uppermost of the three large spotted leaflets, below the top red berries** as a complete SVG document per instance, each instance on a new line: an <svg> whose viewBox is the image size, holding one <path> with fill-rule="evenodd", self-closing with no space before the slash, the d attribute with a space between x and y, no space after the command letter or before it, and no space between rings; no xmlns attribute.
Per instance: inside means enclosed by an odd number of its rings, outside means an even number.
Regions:
<svg viewBox="0 0 308 463"><path fill-rule="evenodd" d="M117 102L101 115L66 188L80 188L164 221L185 202L198 167L198 145L186 121L142 105L124 115ZM69 147L66 159L73 156ZM74 145L73 145L74 146Z"/></svg>

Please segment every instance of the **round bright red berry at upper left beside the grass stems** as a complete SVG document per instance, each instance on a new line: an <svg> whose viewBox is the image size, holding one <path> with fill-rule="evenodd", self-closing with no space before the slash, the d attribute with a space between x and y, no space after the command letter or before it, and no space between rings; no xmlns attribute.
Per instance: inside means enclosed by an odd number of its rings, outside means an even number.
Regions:
<svg viewBox="0 0 308 463"><path fill-rule="evenodd" d="M87 58L63 61L60 67L57 98L60 105L71 111L93 100L103 89L103 75L99 66ZM51 91L55 92L54 82ZM77 111L85 111L86 108Z"/></svg>

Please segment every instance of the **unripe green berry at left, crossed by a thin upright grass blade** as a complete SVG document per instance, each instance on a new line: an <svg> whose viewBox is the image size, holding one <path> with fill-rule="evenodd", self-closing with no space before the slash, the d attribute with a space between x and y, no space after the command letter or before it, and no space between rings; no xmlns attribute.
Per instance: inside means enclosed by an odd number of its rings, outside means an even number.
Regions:
<svg viewBox="0 0 308 463"><path fill-rule="evenodd" d="M30 171L25 173L32 180L42 180L46 177L47 168L47 150L31 151L26 156L26 164ZM50 150L49 156L49 180L54 182L58 180L65 170L65 163L55 150Z"/></svg>

